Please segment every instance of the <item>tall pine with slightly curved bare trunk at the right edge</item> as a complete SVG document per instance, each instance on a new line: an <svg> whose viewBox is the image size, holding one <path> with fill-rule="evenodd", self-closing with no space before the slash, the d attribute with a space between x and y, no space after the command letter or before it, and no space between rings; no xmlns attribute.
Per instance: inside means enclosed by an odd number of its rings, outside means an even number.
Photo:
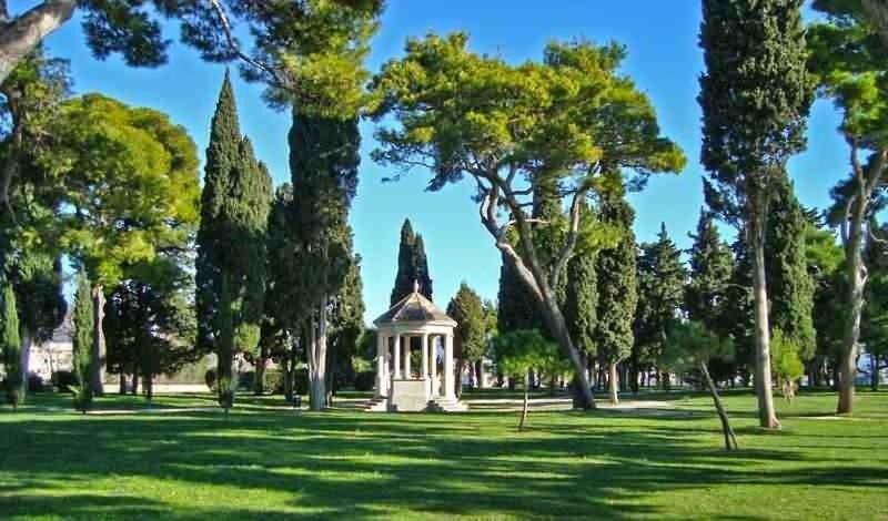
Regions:
<svg viewBox="0 0 888 521"><path fill-rule="evenodd" d="M818 0L814 8L826 14L826 20L809 29L810 69L821 94L841 111L839 132L850 147L851 174L834 190L831 221L839 227L845 246L847 308L836 411L851 413L867 284L864 251L874 232L871 223L888 173L888 42L879 38L879 24L874 23L884 19L870 18L862 2Z"/></svg>

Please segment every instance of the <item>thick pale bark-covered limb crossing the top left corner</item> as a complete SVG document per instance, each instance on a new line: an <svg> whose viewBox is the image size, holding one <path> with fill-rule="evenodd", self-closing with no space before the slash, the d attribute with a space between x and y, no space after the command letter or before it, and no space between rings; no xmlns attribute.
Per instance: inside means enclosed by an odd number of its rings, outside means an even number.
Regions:
<svg viewBox="0 0 888 521"><path fill-rule="evenodd" d="M46 0L0 29L0 83L29 52L71 19L75 0Z"/></svg>

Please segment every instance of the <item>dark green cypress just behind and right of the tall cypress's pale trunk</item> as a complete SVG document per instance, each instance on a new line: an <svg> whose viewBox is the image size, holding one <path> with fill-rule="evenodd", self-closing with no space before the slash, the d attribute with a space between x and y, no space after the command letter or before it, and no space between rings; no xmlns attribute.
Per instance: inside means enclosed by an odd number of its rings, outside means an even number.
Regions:
<svg viewBox="0 0 888 521"><path fill-rule="evenodd" d="M808 273L805 245L809 224L791 183L784 178L774 188L765 237L770 326L791 338L800 349L799 358L808 360L817 348L813 321L815 285Z"/></svg>

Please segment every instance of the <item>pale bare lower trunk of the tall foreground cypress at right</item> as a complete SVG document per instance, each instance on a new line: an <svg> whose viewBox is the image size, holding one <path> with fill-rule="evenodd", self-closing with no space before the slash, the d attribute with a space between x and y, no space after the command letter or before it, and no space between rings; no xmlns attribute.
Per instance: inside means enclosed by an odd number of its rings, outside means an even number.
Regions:
<svg viewBox="0 0 888 521"><path fill-rule="evenodd" d="M764 197L764 194L759 195ZM755 197L750 197L755 198ZM768 289L765 278L765 212L766 205L753 207L749 218L749 243L753 249L753 296L755 305L755 365L758 423L766 429L779 429L774 409L770 376L770 329L768 325Z"/></svg>

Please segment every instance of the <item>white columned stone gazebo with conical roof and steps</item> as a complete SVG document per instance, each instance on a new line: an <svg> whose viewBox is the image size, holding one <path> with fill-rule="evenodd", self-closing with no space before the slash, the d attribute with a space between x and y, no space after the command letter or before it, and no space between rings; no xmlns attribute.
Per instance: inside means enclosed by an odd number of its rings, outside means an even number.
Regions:
<svg viewBox="0 0 888 521"><path fill-rule="evenodd" d="M454 394L453 329L456 321L413 285L413 293L373 321L376 326L376 391L370 410L466 410ZM411 339L420 338L420 367L411 367ZM441 360L441 364L438 364Z"/></svg>

